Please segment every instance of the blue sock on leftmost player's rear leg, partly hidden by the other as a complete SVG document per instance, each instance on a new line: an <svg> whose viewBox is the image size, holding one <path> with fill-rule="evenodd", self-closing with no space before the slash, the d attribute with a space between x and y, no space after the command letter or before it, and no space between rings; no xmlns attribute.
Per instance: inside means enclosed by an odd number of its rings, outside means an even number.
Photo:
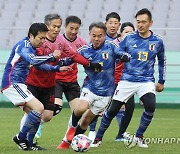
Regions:
<svg viewBox="0 0 180 154"><path fill-rule="evenodd" d="M27 134L27 140L29 141L29 145L33 145L34 136L36 135L36 132L39 128L40 122L34 124L34 126L30 129L30 131Z"/></svg>

